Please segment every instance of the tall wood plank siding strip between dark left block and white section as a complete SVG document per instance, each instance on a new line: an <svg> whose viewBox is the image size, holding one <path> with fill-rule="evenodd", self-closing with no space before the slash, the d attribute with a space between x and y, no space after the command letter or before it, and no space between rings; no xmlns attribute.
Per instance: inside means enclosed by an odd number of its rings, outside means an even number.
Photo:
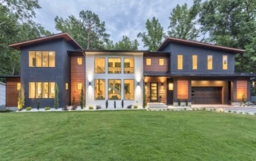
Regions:
<svg viewBox="0 0 256 161"><path fill-rule="evenodd" d="M82 65L78 65L78 57L82 58ZM82 56L71 56L70 57L70 103L72 100L79 105L81 90L78 90L78 83L82 83L82 88L85 91L85 77L86 77L86 67L85 67L85 57Z"/></svg>

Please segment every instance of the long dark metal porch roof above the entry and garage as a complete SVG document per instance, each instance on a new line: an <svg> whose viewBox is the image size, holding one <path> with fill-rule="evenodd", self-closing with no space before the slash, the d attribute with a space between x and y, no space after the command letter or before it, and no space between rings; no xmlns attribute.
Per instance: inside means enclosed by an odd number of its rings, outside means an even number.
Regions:
<svg viewBox="0 0 256 161"><path fill-rule="evenodd" d="M255 73L158 73L145 72L145 77L256 77Z"/></svg>

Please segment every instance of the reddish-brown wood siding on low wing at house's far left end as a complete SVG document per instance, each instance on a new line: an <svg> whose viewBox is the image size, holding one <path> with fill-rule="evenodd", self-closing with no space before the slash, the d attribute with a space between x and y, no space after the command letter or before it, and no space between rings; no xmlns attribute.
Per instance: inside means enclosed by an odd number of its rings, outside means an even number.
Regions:
<svg viewBox="0 0 256 161"><path fill-rule="evenodd" d="M17 107L18 105L18 89L17 84L20 78L6 78L6 107Z"/></svg>

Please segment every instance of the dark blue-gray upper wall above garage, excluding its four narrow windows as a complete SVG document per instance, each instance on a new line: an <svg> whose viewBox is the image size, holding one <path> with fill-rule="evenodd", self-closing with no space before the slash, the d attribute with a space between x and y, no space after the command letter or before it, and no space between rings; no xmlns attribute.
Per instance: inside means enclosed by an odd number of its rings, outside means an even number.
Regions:
<svg viewBox="0 0 256 161"><path fill-rule="evenodd" d="M163 50L166 52L171 52L171 73L233 73L234 72L234 53L192 46L183 45L177 43L170 43ZM183 55L183 69L178 70L177 68L177 56L178 54ZM192 55L198 55L198 69L192 69ZM213 69L207 69L207 56L213 56ZM222 69L222 56L228 56L228 69Z"/></svg>

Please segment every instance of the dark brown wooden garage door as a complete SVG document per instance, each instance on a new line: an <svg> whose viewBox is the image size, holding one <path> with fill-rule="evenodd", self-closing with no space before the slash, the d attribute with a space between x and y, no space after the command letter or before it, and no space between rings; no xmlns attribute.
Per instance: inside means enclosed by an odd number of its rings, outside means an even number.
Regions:
<svg viewBox="0 0 256 161"><path fill-rule="evenodd" d="M222 104L222 87L192 87L192 104Z"/></svg>

